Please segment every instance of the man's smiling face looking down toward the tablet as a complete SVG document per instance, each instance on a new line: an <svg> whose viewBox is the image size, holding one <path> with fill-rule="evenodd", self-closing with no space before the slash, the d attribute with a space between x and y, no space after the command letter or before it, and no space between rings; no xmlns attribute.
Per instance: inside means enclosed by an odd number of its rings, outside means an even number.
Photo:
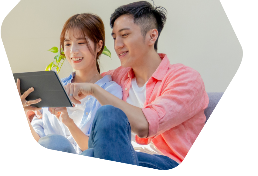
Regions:
<svg viewBox="0 0 258 176"><path fill-rule="evenodd" d="M112 37L122 67L139 65L141 58L148 52L148 45L143 41L141 28L134 24L131 15L122 15L115 20Z"/></svg>

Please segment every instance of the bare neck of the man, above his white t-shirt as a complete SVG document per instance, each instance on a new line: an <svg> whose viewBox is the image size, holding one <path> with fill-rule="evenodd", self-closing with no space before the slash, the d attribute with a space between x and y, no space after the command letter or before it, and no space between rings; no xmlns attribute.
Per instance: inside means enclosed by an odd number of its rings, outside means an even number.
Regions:
<svg viewBox="0 0 258 176"><path fill-rule="evenodd" d="M161 63L161 58L154 50L139 58L137 65L132 67L138 87L144 86Z"/></svg>

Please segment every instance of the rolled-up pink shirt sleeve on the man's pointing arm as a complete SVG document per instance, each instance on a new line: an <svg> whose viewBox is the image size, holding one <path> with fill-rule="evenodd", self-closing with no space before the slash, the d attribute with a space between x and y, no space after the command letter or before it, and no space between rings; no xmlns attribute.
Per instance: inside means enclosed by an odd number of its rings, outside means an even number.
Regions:
<svg viewBox="0 0 258 176"><path fill-rule="evenodd" d="M202 78L195 70L180 69L170 74L162 84L160 96L141 108L149 122L147 138L153 139L183 123L205 109L207 99L209 101Z"/></svg>

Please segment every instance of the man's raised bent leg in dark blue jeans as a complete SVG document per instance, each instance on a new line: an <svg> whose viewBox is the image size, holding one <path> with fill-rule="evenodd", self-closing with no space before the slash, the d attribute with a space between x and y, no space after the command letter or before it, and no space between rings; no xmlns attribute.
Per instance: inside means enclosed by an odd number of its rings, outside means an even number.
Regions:
<svg viewBox="0 0 258 176"><path fill-rule="evenodd" d="M88 145L89 149L81 155L138 165L130 123L119 108L105 105L97 110Z"/></svg>

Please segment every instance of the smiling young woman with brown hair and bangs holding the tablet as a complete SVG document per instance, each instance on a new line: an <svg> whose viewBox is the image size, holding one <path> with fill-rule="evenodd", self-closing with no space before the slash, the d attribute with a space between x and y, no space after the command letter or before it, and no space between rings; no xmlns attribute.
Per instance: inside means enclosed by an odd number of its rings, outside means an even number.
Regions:
<svg viewBox="0 0 258 176"><path fill-rule="evenodd" d="M105 45L104 24L97 15L83 13L70 17L63 26L60 36L60 48L63 48L66 60L75 69L67 78L61 79L64 86L71 83L95 83L99 87L122 99L122 89L112 81L111 76L102 77L98 64ZM20 80L17 89L20 94ZM25 114L39 100L26 101L33 88L20 98ZM72 96L72 95L71 95ZM80 154L88 149L88 139L92 121L100 103L93 96L86 96L73 107L42 108L42 118L33 118L29 127L34 139L42 146L52 150ZM49 139L55 143L49 143Z"/></svg>

